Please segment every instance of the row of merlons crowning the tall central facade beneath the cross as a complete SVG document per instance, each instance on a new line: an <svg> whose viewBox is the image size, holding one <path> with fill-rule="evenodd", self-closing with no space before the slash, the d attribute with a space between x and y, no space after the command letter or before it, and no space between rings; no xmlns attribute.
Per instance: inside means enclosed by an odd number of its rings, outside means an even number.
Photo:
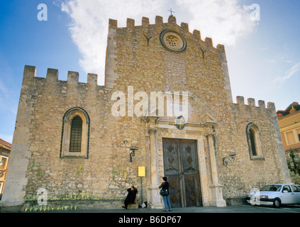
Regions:
<svg viewBox="0 0 300 227"><path fill-rule="evenodd" d="M118 27L118 21L117 20L113 20L113 19L109 19L109 28L116 30L117 28L128 28L128 29L133 29L133 28L140 28L140 27L148 27L148 26L162 26L162 25L167 25L170 24L170 26L172 25L177 25L177 21L176 21L176 17L174 17L173 15L169 16L168 18L168 22L164 23L163 22L163 18L162 16L156 16L155 17L155 24L150 24L149 22L149 18L147 17L143 17L142 18L142 25L141 26L135 26L135 20L132 18L127 18L126 21L126 27ZM182 22L179 26L181 28L182 31L190 33L189 32L189 24L188 23L184 23ZM201 32L199 30L194 30L193 33L190 33L191 35L194 35L194 38L201 40ZM213 47L213 40L212 38L206 37L204 40L201 40L204 43L206 43L207 45ZM218 51L223 51L225 52L225 48L223 45L217 45L216 49Z"/></svg>

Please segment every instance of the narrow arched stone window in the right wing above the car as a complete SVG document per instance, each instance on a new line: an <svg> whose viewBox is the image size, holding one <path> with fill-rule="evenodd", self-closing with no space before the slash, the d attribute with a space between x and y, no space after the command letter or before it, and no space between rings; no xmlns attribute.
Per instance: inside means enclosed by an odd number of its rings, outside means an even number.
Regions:
<svg viewBox="0 0 300 227"><path fill-rule="evenodd" d="M250 160L265 160L262 150L262 140L260 131L255 123L248 124L246 128L248 148L250 153Z"/></svg>

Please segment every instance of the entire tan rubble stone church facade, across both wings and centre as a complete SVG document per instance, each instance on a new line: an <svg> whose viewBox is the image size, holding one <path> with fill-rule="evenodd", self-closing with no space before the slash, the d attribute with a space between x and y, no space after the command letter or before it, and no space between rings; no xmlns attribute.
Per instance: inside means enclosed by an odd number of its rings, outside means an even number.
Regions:
<svg viewBox="0 0 300 227"><path fill-rule="evenodd" d="M160 41L166 29L181 34L187 49L166 50ZM109 21L105 86L97 84L96 74L88 74L87 83L78 82L77 72L68 72L67 81L58 79L57 70L48 69L45 78L35 74L35 67L25 67L6 201L34 196L39 187L54 198L80 193L124 198L131 185L140 191L138 166L145 166L143 198L151 203L164 171L164 137L197 140L204 206L221 201L221 185L223 197L229 198L262 184L289 181L274 104L267 109L264 101L257 107L248 99L245 105L243 97L233 104L223 45L214 48L211 38L201 40L199 31L189 33L188 25L178 26L174 16L168 23L157 16L154 25L143 18L142 26L128 19L126 28ZM176 128L177 116L157 116L151 122L134 116L128 106L135 106L140 97L130 100L128 91L148 97L150 92L189 92L187 128ZM126 116L113 116L114 92L125 94ZM60 155L63 118L75 107L84 109L90 119L87 158ZM260 131L263 160L250 160L249 123ZM138 146L133 162L131 146ZM230 153L235 153L235 160L223 165Z"/></svg>

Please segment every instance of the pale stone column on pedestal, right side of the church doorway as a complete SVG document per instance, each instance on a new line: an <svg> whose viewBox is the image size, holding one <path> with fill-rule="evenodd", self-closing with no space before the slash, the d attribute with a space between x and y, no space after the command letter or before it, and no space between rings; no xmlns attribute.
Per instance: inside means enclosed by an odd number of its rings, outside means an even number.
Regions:
<svg viewBox="0 0 300 227"><path fill-rule="evenodd" d="M223 199L222 185L218 182L218 170L216 165L215 148L213 145L213 132L211 129L206 131L207 139L209 140L209 157L211 162L211 178L213 184L211 184L212 206L224 207L226 201Z"/></svg>

